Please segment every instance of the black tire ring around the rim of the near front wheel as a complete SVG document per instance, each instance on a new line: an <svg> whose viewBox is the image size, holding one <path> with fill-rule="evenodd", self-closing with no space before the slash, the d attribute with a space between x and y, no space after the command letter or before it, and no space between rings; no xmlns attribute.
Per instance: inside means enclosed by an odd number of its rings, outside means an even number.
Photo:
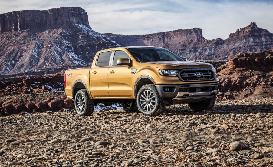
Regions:
<svg viewBox="0 0 273 167"><path fill-rule="evenodd" d="M155 96L155 106L154 108L147 112L145 110L142 109L141 107L141 104L140 104L140 96L142 94L142 92L144 92L145 90L150 90L151 92L153 92L154 96ZM159 102L159 95L157 92L155 92L152 88L150 88L149 86L143 86L142 88L140 88L140 90L138 91L137 93L137 96L136 96L136 104L137 104L137 107L139 109L139 111L144 114L144 115L153 115L154 112L156 112L157 108L158 108L158 102Z"/></svg>

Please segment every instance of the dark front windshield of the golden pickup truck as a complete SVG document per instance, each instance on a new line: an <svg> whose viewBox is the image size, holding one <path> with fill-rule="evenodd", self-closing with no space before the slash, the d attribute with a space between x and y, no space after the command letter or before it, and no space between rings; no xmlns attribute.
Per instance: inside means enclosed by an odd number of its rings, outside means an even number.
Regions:
<svg viewBox="0 0 273 167"><path fill-rule="evenodd" d="M184 59L164 48L129 48L138 62L183 61Z"/></svg>

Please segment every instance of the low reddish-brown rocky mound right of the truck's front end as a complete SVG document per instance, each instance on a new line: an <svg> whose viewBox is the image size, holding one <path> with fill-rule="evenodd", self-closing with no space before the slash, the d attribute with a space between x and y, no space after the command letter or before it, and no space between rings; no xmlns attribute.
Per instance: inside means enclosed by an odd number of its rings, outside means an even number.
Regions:
<svg viewBox="0 0 273 167"><path fill-rule="evenodd" d="M220 89L225 98L273 96L273 52L238 54L217 68Z"/></svg>

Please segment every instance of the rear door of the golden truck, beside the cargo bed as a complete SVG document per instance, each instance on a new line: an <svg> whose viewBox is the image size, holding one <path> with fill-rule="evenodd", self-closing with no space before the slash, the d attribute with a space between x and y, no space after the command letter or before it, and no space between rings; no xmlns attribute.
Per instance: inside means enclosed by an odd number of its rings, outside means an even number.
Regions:
<svg viewBox="0 0 273 167"><path fill-rule="evenodd" d="M112 53L113 51L100 53L96 64L91 68L91 91L95 97L109 97L108 69Z"/></svg>

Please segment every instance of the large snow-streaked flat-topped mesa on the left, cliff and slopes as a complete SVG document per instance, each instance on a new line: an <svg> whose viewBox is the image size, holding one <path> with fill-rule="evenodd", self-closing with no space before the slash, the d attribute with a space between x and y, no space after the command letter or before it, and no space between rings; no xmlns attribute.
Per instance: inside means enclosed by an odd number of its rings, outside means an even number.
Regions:
<svg viewBox="0 0 273 167"><path fill-rule="evenodd" d="M1 78L86 67L97 51L118 46L89 26L80 7L0 14Z"/></svg>

